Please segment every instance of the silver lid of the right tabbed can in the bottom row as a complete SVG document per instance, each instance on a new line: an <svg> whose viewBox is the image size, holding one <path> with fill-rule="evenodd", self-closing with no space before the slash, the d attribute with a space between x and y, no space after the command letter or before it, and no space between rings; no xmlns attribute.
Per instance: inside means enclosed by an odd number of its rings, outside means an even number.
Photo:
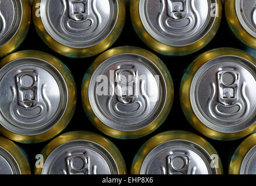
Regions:
<svg viewBox="0 0 256 186"><path fill-rule="evenodd" d="M152 149L140 174L217 174L211 155L186 140L170 140Z"/></svg>

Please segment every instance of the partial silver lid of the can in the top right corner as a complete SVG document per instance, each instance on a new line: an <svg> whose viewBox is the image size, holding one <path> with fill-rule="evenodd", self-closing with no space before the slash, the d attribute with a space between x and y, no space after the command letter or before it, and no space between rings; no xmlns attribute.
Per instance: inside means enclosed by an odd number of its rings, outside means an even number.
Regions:
<svg viewBox="0 0 256 186"><path fill-rule="evenodd" d="M236 0L236 13L244 30L256 38L256 2Z"/></svg>

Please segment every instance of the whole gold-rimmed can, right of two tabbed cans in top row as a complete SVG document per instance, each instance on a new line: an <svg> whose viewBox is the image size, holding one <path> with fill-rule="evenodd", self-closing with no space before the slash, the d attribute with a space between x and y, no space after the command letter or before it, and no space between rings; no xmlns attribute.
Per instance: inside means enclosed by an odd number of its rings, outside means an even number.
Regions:
<svg viewBox="0 0 256 186"><path fill-rule="evenodd" d="M182 56L205 47L219 29L220 0L131 0L132 24L153 51Z"/></svg>

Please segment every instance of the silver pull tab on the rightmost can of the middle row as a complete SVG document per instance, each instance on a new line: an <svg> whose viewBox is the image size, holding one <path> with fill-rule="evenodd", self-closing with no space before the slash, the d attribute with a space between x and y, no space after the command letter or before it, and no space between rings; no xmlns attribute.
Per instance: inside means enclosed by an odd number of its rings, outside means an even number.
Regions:
<svg viewBox="0 0 256 186"><path fill-rule="evenodd" d="M234 105L239 100L240 74L235 70L223 70L218 74L219 102L223 105Z"/></svg>

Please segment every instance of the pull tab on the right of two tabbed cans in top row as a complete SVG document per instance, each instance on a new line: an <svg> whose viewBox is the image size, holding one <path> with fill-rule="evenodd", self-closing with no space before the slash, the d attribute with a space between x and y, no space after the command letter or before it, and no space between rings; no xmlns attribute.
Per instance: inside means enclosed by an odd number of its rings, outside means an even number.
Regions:
<svg viewBox="0 0 256 186"><path fill-rule="evenodd" d="M168 16L183 19L188 14L187 0L167 0Z"/></svg>

